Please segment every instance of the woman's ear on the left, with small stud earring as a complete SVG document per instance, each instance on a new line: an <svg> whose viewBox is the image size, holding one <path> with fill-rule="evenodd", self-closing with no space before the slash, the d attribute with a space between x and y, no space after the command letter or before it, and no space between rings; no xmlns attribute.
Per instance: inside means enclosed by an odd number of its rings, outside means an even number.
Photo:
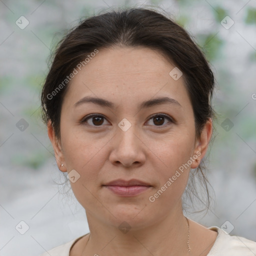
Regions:
<svg viewBox="0 0 256 256"><path fill-rule="evenodd" d="M52 127L51 121L49 120L47 122L47 131L48 131L48 136L51 141L52 147L54 149L54 154L55 154L55 159L56 163L58 165L59 170L65 172L66 171L66 165L65 165L65 160L64 156L62 153L62 148L59 140L56 138L54 129ZM61 166L63 164L63 166Z"/></svg>

